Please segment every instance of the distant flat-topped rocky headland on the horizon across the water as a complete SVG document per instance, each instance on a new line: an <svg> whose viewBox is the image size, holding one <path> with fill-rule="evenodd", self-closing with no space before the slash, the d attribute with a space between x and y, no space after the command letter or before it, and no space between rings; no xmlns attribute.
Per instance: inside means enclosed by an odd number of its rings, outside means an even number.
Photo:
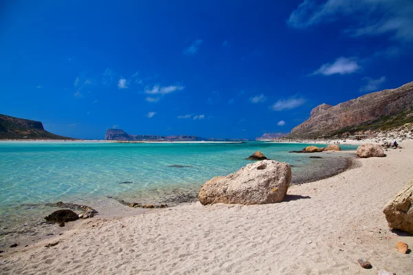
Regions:
<svg viewBox="0 0 413 275"><path fill-rule="evenodd" d="M209 141L209 142L240 142L248 139L198 137L195 135L129 135L122 129L107 129L105 140L127 140L127 141Z"/></svg>

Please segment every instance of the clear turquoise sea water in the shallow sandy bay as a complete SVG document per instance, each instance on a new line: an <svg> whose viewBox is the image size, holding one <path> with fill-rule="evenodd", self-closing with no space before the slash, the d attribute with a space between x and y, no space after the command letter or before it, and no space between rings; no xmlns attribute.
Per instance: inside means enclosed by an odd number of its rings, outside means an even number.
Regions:
<svg viewBox="0 0 413 275"><path fill-rule="evenodd" d="M288 162L293 183L327 177L346 166L343 153L288 153L304 144L270 142L141 143L1 142L1 237L21 226L43 221L52 208L45 203L65 201L116 207L116 200L173 205L194 199L211 177L233 173L251 161L255 151ZM318 146L321 146L318 144ZM354 150L356 146L342 146ZM23 230L25 232L25 230Z"/></svg>

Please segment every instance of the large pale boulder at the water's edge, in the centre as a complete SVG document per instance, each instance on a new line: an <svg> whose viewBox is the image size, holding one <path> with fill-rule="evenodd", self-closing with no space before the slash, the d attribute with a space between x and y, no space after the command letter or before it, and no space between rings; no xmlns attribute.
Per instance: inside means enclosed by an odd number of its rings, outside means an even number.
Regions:
<svg viewBox="0 0 413 275"><path fill-rule="evenodd" d="M230 175L213 177L201 186L198 198L203 205L276 203L284 200L290 181L290 165L267 159Z"/></svg>

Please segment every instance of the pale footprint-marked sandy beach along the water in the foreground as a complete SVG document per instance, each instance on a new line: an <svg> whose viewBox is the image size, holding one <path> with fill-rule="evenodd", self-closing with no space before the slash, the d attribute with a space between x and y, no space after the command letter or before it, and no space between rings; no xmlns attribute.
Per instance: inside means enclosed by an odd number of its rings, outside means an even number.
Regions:
<svg viewBox="0 0 413 275"><path fill-rule="evenodd" d="M413 179L413 142L401 145L335 177L291 186L282 203L186 203L84 220L61 236L8 248L0 273L413 274L412 254L396 250L398 241L413 247L413 236L390 230L382 212Z"/></svg>

